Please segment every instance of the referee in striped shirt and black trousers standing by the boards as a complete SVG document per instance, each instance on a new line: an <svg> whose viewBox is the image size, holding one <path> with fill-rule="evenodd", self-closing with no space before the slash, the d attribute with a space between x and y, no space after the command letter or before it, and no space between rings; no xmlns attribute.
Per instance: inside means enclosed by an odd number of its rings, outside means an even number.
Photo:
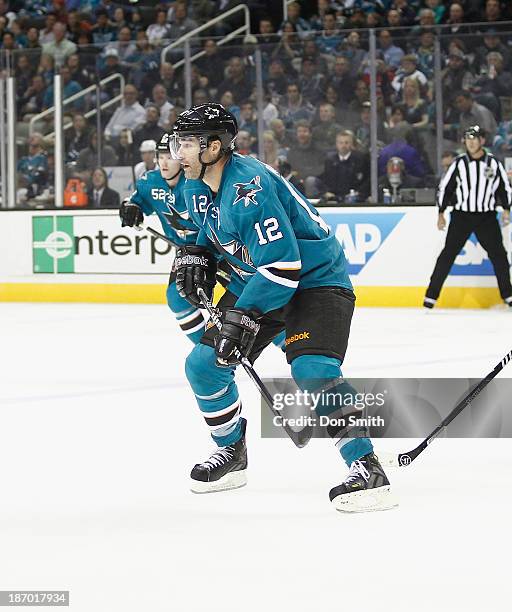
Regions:
<svg viewBox="0 0 512 612"><path fill-rule="evenodd" d="M450 268L466 240L474 232L487 251L498 280L501 297L512 307L512 285L496 206L503 207L503 225L510 222L512 189L502 163L483 148L478 125L464 132L466 153L454 159L439 183L437 227L444 230L444 211L453 206L446 243L437 258L423 305L433 308Z"/></svg>

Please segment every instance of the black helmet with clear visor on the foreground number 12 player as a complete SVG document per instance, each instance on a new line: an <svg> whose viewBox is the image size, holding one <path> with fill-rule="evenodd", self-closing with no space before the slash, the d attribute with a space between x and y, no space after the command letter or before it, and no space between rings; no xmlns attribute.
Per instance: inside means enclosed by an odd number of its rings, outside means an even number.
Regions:
<svg viewBox="0 0 512 612"><path fill-rule="evenodd" d="M238 123L235 116L226 110L222 104L211 102L199 104L183 111L173 127L174 139L171 140L171 153L178 157L179 139L187 136L199 141L199 161L202 164L203 178L206 168L216 164L223 155L231 155L235 150L235 139L238 134ZM221 149L216 159L210 162L203 160L203 153L208 145L219 140Z"/></svg>

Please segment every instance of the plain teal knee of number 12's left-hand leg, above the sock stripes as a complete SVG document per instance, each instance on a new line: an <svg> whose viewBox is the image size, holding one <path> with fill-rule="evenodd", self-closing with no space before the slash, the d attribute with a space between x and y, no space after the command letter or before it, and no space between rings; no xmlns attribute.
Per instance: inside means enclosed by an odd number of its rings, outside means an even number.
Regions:
<svg viewBox="0 0 512 612"><path fill-rule="evenodd" d="M215 349L196 344L185 361L185 374L196 395L208 395L232 381L234 368L219 367Z"/></svg>

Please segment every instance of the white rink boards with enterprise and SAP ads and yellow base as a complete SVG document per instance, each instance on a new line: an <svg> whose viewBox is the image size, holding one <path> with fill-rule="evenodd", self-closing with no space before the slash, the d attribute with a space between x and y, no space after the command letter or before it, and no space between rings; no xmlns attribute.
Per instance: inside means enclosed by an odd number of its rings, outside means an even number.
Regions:
<svg viewBox="0 0 512 612"><path fill-rule="evenodd" d="M347 257L360 306L420 306L445 233L434 207L322 208ZM116 211L2 211L1 301L164 303L172 251ZM156 217L148 223L161 230ZM511 229L503 230L511 260ZM500 302L474 236L458 256L441 307Z"/></svg>

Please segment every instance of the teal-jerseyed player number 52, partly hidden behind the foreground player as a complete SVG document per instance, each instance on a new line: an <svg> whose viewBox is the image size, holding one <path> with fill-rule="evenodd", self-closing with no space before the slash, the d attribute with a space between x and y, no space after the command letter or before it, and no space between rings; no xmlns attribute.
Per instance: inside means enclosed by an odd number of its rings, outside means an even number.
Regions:
<svg viewBox="0 0 512 612"><path fill-rule="evenodd" d="M189 219L183 198L186 179L180 163L169 152L169 134L157 144L158 168L146 172L136 183L135 191L119 209L121 223L136 227L144 215L156 213L165 235L178 245L195 244L198 228ZM179 326L197 344L204 333L204 317L197 307L182 298L176 289L176 273L171 272L167 287L167 303Z"/></svg>

